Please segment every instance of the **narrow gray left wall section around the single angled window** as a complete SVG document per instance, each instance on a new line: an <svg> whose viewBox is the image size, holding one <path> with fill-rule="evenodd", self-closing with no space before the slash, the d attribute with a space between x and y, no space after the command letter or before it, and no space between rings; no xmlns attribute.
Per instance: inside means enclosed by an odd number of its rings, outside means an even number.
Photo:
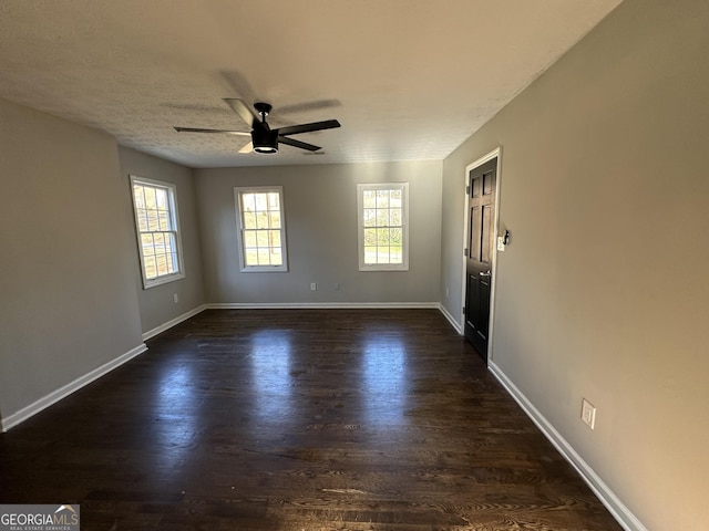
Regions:
<svg viewBox="0 0 709 531"><path fill-rule="evenodd" d="M141 325L143 333L151 332L174 319L178 319L205 303L204 279L202 275L202 248L195 202L195 187L192 169L163 160L144 153L119 148L121 178L123 179L124 208L133 216L130 175L171 183L176 186L177 211L185 266L185 278L145 290L140 270L140 260L133 268L133 279L138 294ZM138 256L135 225L133 228L133 254ZM173 295L177 294L177 302Z"/></svg>

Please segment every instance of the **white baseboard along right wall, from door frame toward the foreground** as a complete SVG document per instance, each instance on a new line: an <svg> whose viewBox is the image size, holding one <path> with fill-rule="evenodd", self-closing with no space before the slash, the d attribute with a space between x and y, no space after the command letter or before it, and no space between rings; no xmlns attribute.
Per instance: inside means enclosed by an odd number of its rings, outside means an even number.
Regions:
<svg viewBox="0 0 709 531"><path fill-rule="evenodd" d="M520 407L526 413L544 436L554 445L559 454L576 469L586 481L590 490L598 497L606 509L626 531L648 531L635 514L620 501L616 493L600 479L593 468L578 455L568 441L552 426L552 424L534 407L534 404L517 388L505 373L492 361L489 362L490 372L497 378L507 393L512 395Z"/></svg>

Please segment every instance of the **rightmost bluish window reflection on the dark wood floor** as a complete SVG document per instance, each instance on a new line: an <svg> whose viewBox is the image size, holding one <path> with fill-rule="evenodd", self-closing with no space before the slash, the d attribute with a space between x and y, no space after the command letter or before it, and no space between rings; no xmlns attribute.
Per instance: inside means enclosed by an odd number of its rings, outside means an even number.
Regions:
<svg viewBox="0 0 709 531"><path fill-rule="evenodd" d="M401 424L404 420L407 348L399 335L368 339L362 357L366 394L364 414L373 425Z"/></svg>

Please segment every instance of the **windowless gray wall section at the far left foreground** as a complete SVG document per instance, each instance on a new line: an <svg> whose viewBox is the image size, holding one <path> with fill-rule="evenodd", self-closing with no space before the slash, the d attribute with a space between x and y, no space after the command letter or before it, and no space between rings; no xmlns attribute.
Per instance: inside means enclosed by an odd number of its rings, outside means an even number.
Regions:
<svg viewBox="0 0 709 531"><path fill-rule="evenodd" d="M0 100L0 418L142 345L115 140Z"/></svg>

